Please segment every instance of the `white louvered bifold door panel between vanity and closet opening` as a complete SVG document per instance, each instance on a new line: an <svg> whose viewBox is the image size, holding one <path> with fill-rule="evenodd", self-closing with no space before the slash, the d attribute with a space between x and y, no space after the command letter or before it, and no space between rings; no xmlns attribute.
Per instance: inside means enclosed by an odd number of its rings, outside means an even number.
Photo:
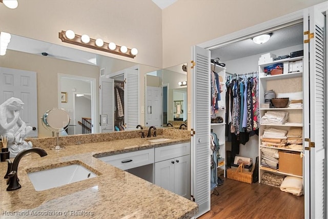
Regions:
<svg viewBox="0 0 328 219"><path fill-rule="evenodd" d="M191 192L198 204L198 217L211 209L210 193L210 51L193 46ZM192 64L193 65L193 64ZM189 82L188 82L189 83Z"/></svg>

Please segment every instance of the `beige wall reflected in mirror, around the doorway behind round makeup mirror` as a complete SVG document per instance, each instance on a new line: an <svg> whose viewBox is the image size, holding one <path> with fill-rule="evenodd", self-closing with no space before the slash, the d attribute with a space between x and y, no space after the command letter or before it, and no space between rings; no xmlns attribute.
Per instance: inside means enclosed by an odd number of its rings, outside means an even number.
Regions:
<svg viewBox="0 0 328 219"><path fill-rule="evenodd" d="M8 50L6 55L0 56L0 66L36 72L38 118L41 118L47 110L58 107L58 73L93 77L96 78L96 87L99 84L99 68L97 66L24 52ZM96 96L99 99L98 92ZM37 121L37 126L39 137L51 136L51 132L42 126L41 120Z"/></svg>

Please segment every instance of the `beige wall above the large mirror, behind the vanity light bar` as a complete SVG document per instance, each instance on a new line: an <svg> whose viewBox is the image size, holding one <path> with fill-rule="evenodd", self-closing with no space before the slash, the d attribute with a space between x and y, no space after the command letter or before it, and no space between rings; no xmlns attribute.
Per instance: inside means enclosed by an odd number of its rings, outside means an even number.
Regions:
<svg viewBox="0 0 328 219"><path fill-rule="evenodd" d="M139 53L132 59L83 48L86 51L161 68L161 9L150 0L18 0L16 9L0 4L0 31L82 49L58 38L58 32L69 29L119 46L136 47Z"/></svg>

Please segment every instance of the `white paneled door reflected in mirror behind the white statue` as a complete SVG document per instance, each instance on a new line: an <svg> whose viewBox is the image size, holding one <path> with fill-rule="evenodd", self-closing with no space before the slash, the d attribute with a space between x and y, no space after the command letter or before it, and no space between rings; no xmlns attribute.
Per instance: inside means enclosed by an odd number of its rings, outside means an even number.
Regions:
<svg viewBox="0 0 328 219"><path fill-rule="evenodd" d="M33 130L27 135L37 137L36 72L0 67L0 104L10 97L23 101L20 118Z"/></svg>

